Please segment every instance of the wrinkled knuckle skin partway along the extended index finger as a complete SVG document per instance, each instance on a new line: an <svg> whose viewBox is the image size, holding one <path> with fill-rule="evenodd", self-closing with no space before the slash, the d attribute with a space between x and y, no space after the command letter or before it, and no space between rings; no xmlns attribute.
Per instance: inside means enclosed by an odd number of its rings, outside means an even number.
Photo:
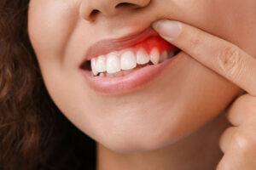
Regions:
<svg viewBox="0 0 256 170"><path fill-rule="evenodd" d="M230 45L220 50L217 57L218 66L224 74L230 77L239 77L244 67L241 51L236 46Z"/></svg>

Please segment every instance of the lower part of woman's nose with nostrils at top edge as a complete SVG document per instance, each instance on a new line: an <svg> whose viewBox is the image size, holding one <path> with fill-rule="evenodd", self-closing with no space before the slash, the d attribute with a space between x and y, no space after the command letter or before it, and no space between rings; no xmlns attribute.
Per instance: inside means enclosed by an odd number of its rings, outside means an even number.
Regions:
<svg viewBox="0 0 256 170"><path fill-rule="evenodd" d="M113 16L124 10L144 8L151 0L82 0L80 15L84 20L95 20L97 14Z"/></svg>

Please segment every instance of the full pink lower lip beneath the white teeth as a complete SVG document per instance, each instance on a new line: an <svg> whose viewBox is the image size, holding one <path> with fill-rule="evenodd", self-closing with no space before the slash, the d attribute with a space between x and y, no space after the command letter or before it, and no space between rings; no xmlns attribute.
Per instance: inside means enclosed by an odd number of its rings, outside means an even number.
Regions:
<svg viewBox="0 0 256 170"><path fill-rule="evenodd" d="M173 61L177 57L178 54L158 65L144 66L123 77L94 77L91 71L83 69L81 71L86 82L97 93L105 95L127 94L145 88L150 82L154 82L157 77L160 77L160 73L166 67L170 67L174 63Z"/></svg>

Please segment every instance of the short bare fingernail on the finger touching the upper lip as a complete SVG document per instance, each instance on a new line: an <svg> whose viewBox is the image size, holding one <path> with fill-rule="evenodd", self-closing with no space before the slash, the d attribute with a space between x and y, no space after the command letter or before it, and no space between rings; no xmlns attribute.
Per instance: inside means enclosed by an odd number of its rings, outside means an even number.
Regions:
<svg viewBox="0 0 256 170"><path fill-rule="evenodd" d="M178 37L182 30L181 24L173 20L158 20L152 26L155 31L158 31L162 37L166 37L168 40Z"/></svg>

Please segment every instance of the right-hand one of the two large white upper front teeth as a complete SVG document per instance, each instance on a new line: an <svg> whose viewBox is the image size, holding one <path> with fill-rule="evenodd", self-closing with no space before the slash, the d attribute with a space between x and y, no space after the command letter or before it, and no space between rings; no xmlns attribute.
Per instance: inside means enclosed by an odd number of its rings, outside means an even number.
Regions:
<svg viewBox="0 0 256 170"><path fill-rule="evenodd" d="M131 70L137 66L137 61L135 54L132 50L125 51L124 54L121 55L121 69L122 70Z"/></svg>

